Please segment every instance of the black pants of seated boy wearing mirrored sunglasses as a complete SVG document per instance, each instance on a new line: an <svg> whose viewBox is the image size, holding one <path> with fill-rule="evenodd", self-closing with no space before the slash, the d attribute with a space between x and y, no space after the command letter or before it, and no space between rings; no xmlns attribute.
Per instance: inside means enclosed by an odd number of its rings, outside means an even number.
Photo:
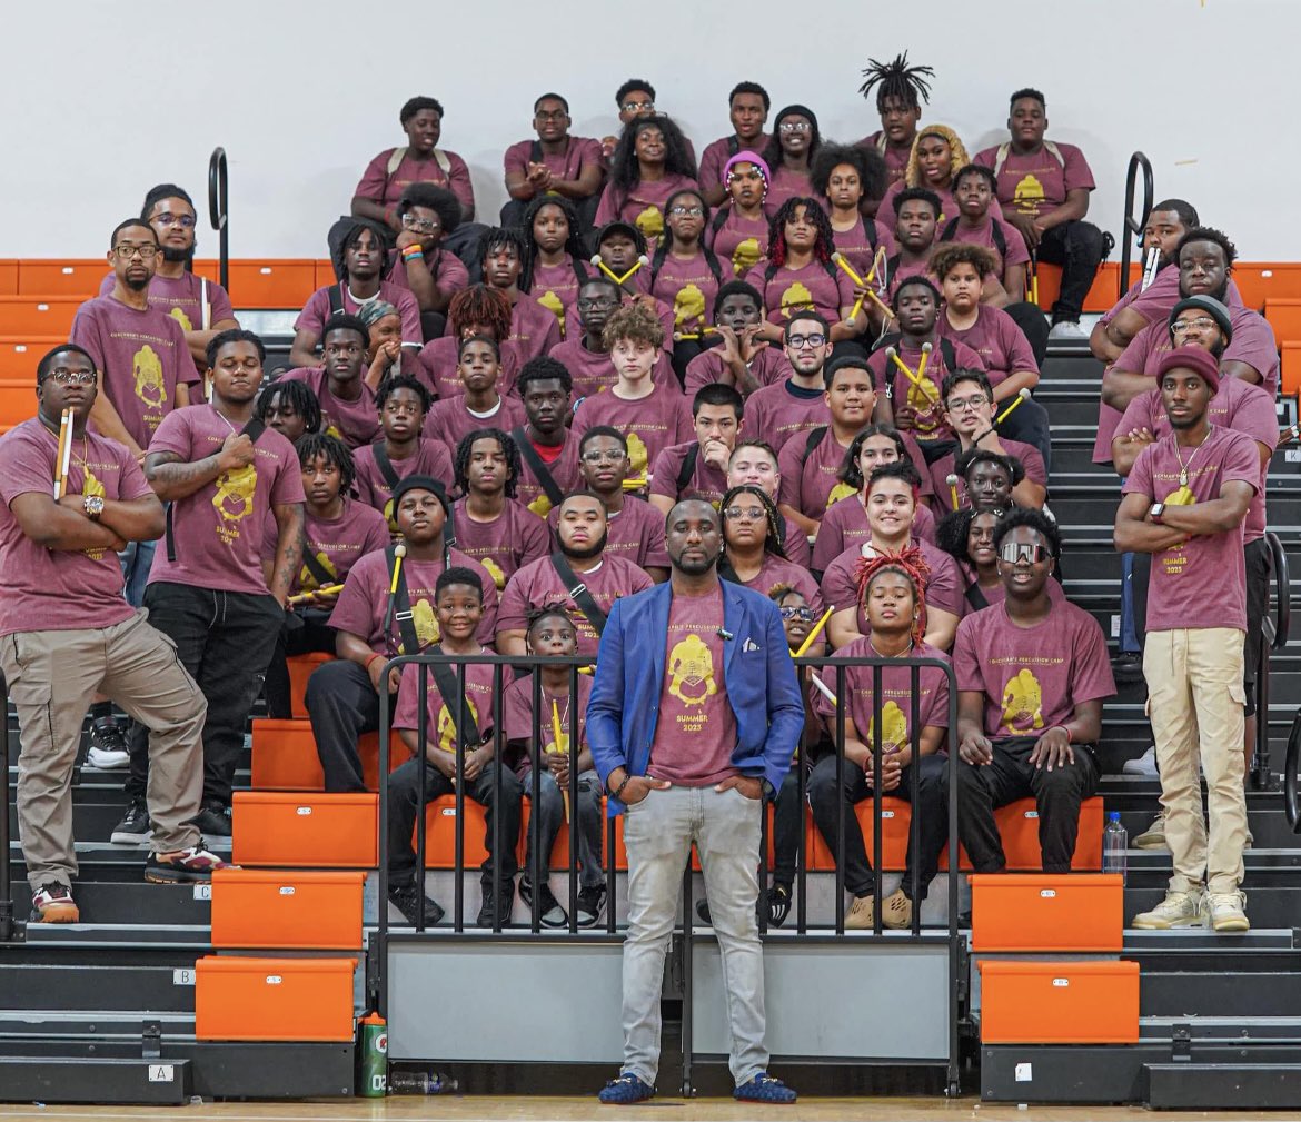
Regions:
<svg viewBox="0 0 1301 1122"><path fill-rule="evenodd" d="M1036 768L1030 752L1038 737L994 742L994 759L973 765L958 761L958 836L976 872L1007 866L994 811L1030 795L1039 811L1043 872L1069 872L1080 832L1080 804L1098 789L1098 761L1089 745L1075 745L1075 763ZM946 782L947 787L947 773Z"/></svg>

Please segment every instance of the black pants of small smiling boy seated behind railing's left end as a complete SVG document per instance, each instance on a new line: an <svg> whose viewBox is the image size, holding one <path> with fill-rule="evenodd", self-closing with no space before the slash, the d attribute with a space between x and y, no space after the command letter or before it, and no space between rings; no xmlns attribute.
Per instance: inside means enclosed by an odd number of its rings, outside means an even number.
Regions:
<svg viewBox="0 0 1301 1122"><path fill-rule="evenodd" d="M442 772L423 760L409 760L389 776L389 876L398 884L411 881L416 875L415 817L420 812L420 768L424 768L424 799L432 802L440 795L450 795L455 789ZM497 868L498 886L506 884L519 871L515 845L519 842L520 807L524 785L510 768L501 769L501 799L497 798L498 763L492 760L476 778L466 784L466 798L474 799L488 812L484 847L488 859L483 863L483 884L493 879L493 820L501 815L501 862ZM505 919L505 916L502 916Z"/></svg>

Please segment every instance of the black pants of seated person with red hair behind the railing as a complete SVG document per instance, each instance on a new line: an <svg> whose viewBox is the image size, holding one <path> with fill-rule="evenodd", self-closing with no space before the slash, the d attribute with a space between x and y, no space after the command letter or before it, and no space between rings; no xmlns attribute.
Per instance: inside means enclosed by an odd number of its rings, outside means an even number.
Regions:
<svg viewBox="0 0 1301 1122"><path fill-rule="evenodd" d="M917 838L921 853L913 853L909 837L908 858L904 864L903 890L912 899L912 871L917 869L917 897L920 903L926 898L926 888L935 879L939 868L939 851L948 841L948 815L945 807L948 795L945 776L948 760L942 755L921 756L903 769L903 774L889 795L912 802L912 771L917 769L917 803L912 808L917 819ZM837 804L844 800L844 886L855 896L864 896L873 889L872 863L868 860L863 829L853 807L872 795L868 786L868 773L850 760L843 764L844 784L837 791L837 756L830 752L813 765L809 776L809 806L813 808L813 821L826 841L827 849L835 853Z"/></svg>

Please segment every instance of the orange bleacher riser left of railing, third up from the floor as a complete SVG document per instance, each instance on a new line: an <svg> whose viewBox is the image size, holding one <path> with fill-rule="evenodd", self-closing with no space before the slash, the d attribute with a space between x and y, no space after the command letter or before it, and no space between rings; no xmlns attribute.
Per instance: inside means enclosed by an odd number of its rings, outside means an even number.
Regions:
<svg viewBox="0 0 1301 1122"><path fill-rule="evenodd" d="M379 795L315 791L235 791L235 864L375 868Z"/></svg>

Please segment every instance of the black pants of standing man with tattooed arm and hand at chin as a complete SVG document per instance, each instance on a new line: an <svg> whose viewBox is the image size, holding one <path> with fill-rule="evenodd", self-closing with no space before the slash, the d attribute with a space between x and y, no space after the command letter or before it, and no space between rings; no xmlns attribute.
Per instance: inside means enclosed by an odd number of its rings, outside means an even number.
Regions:
<svg viewBox="0 0 1301 1122"><path fill-rule="evenodd" d="M203 722L203 802L230 806L248 711L262 691L285 612L269 592L217 592L156 582L144 590L150 623L176 643L181 665L208 699ZM126 794L143 799L148 729L131 726Z"/></svg>

